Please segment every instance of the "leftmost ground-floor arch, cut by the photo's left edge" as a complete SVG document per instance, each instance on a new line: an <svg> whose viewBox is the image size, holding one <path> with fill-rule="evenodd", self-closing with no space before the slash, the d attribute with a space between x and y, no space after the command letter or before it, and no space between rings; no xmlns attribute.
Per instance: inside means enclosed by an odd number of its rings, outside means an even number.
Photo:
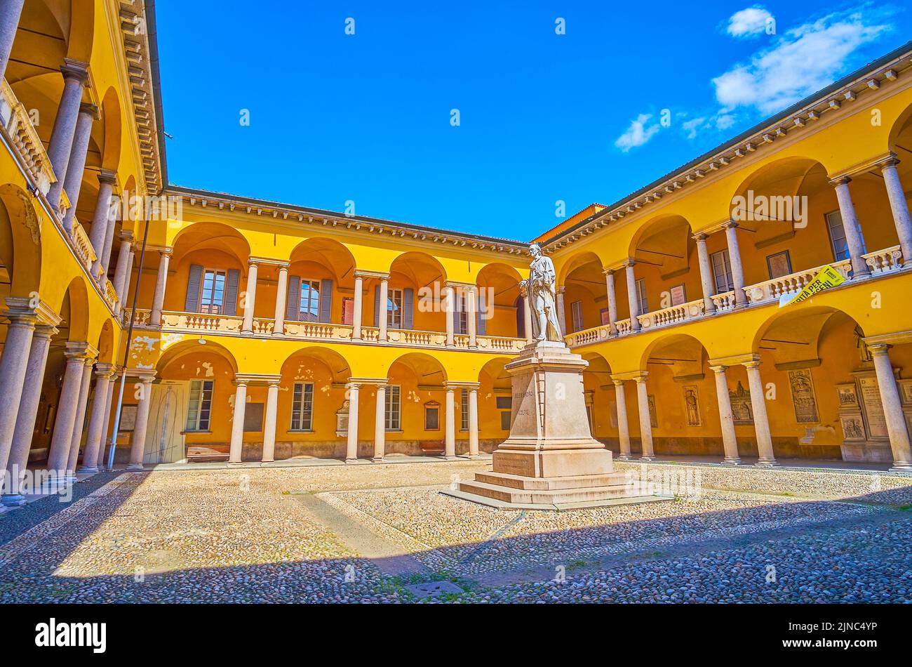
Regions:
<svg viewBox="0 0 912 667"><path fill-rule="evenodd" d="M0 263L10 294L28 297L41 280L41 234L38 215L22 188L0 186Z"/></svg>

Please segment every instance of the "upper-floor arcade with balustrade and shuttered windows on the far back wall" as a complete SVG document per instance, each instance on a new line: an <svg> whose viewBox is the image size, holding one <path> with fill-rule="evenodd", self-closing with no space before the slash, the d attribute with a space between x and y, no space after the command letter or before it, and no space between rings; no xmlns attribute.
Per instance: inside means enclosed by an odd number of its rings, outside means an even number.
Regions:
<svg viewBox="0 0 912 667"><path fill-rule="evenodd" d="M522 349L531 330L513 266L489 264L466 284L415 251L388 271L358 269L345 245L326 237L302 241L282 259L250 252L243 234L220 223L192 224L171 247L147 249L138 299L147 307L135 324L503 352ZM125 311L125 323L131 315Z"/></svg>

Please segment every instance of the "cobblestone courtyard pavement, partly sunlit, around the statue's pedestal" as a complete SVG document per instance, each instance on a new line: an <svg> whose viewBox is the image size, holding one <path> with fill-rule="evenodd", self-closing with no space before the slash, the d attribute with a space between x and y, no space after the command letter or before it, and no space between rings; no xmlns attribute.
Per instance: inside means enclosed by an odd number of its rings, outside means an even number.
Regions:
<svg viewBox="0 0 912 667"><path fill-rule="evenodd" d="M912 601L912 477L618 464L668 501L440 494L489 465L96 475L0 516L0 601Z"/></svg>

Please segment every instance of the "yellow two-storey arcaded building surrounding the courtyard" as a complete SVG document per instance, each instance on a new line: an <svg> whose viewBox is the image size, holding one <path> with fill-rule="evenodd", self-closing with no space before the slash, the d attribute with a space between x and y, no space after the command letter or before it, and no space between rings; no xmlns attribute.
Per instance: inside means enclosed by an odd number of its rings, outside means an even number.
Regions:
<svg viewBox="0 0 912 667"><path fill-rule="evenodd" d="M150 2L0 9L5 502L114 422L133 467L502 442L527 245L169 185L155 48ZM910 88L912 44L536 239L596 438L912 467Z"/></svg>

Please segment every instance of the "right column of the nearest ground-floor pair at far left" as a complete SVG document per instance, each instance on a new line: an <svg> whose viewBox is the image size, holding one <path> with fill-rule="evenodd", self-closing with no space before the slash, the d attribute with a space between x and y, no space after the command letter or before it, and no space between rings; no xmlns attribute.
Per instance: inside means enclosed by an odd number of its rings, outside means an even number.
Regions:
<svg viewBox="0 0 912 667"><path fill-rule="evenodd" d="M48 324L39 324L32 336L32 345L28 350L26 378L22 385L22 397L19 400L19 410L16 416L16 430L13 433L13 446L6 462L6 474L10 486L9 493L3 496L4 505L17 506L26 503L26 499L21 495L19 489L28 465L32 436L35 434L38 403L41 401L41 386L44 383L45 368L47 367L47 351L51 347L51 338L56 333L57 328ZM0 396L0 400L2 398Z"/></svg>

